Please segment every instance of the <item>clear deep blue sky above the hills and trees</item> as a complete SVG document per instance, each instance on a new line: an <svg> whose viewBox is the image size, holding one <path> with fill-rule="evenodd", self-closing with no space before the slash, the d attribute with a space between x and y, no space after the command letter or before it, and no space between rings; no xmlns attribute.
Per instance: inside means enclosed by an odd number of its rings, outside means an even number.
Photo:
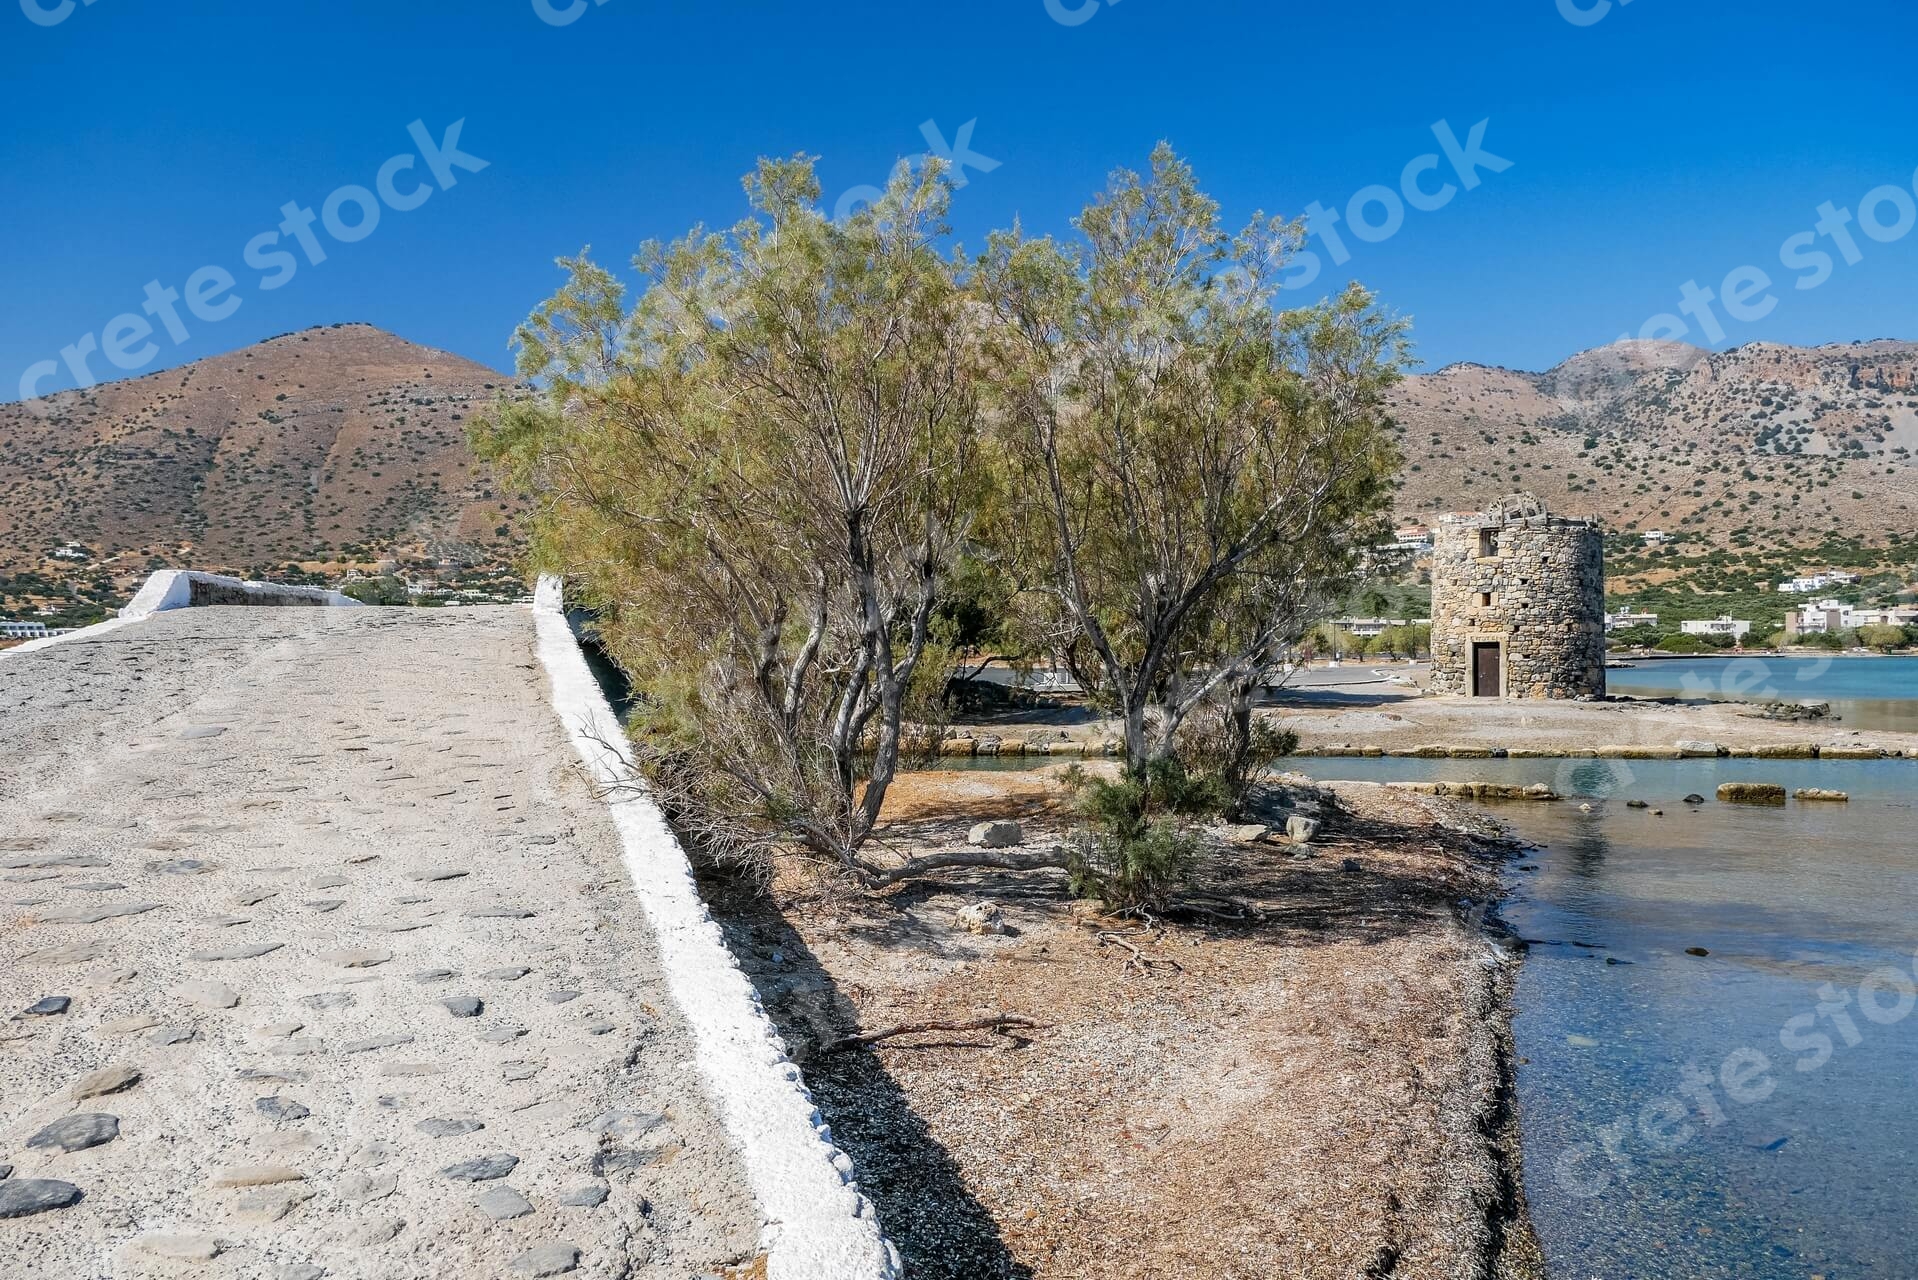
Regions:
<svg viewBox="0 0 1918 1280"><path fill-rule="evenodd" d="M1720 309L1711 345L1918 338L1918 234L1853 225L1855 265L1824 238L1834 271L1811 290L1793 288L1809 269L1780 265L1820 203L1857 215L1876 188L1912 196L1908 0L541 2L579 12L550 25L535 0L90 0L56 19L65 0L0 0L0 399L138 317L150 280L184 292L205 267L234 276L209 315L240 305L199 319L176 303L184 342L155 313L136 372L338 320L506 368L556 255L591 244L623 265L641 240L731 223L763 154L821 155L834 200L924 152L923 121L949 142L974 119L971 150L999 161L957 194L974 246L1015 217L1064 230L1160 138L1235 219L1312 201L1345 217L1362 188L1400 190L1408 161L1440 154L1437 121L1462 144L1488 121L1483 148L1509 169L1406 209L1379 242L1343 223L1350 261L1323 261L1300 294L1379 290L1414 317L1427 367L1544 368L1742 265L1768 273L1776 303L1753 320ZM483 171L455 169L353 244L315 232L326 261L259 288L270 273L244 248L282 205L372 188L418 152L409 123L437 142L458 119ZM1429 196L1456 175L1419 182ZM1878 215L1895 223L1897 200ZM136 359L142 336L121 338ZM123 376L98 353L88 368ZM36 388L71 382L61 367Z"/></svg>

